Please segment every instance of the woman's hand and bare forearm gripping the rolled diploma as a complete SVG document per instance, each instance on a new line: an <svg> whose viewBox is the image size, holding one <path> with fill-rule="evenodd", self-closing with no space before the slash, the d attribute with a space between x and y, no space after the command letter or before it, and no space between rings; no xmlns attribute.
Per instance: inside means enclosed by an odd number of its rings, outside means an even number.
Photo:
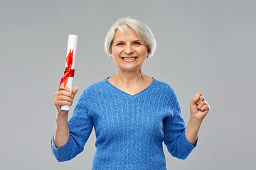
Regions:
<svg viewBox="0 0 256 170"><path fill-rule="evenodd" d="M61 106L73 103L75 94L78 92L78 87L70 89L67 86L60 85L58 91L54 94L54 105L57 109L56 124L53 133L53 138L56 147L62 147L68 142L69 129L68 129L68 111L61 111Z"/></svg>

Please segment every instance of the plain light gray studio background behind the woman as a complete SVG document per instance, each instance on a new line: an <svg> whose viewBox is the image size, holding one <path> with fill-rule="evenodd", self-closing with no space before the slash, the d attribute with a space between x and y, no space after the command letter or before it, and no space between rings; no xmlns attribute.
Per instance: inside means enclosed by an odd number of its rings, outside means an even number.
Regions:
<svg viewBox="0 0 256 170"><path fill-rule="evenodd" d="M255 1L236 0L1 0L0 169L91 168L94 132L72 161L53 157L53 94L70 33L80 38L75 101L87 86L114 74L103 44L124 16L142 19L153 31L156 53L143 71L173 86L186 122L197 91L211 106L188 159L171 157L164 147L167 169L255 169L255 8Z"/></svg>

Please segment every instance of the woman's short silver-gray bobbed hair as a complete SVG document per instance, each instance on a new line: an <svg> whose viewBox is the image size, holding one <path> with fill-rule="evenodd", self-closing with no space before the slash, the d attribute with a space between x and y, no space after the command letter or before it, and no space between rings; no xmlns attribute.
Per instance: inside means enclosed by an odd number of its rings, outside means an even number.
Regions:
<svg viewBox="0 0 256 170"><path fill-rule="evenodd" d="M105 52L107 52L107 55L112 55L111 48L116 30L119 29L122 33L124 33L127 26L131 27L137 33L139 39L146 44L149 50L149 57L154 55L156 50L156 40L153 33L146 23L133 17L120 18L112 25L105 39Z"/></svg>

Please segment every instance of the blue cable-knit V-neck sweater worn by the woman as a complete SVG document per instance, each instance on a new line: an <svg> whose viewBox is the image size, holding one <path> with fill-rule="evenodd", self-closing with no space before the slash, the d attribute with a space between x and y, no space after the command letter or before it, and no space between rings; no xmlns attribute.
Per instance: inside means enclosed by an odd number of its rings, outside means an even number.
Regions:
<svg viewBox="0 0 256 170"><path fill-rule="evenodd" d="M83 91L68 121L68 142L52 151L59 162L82 152L95 128L97 147L92 169L166 169L162 143L172 156L186 159L195 146L185 136L186 124L174 90L154 79L135 95L107 79Z"/></svg>

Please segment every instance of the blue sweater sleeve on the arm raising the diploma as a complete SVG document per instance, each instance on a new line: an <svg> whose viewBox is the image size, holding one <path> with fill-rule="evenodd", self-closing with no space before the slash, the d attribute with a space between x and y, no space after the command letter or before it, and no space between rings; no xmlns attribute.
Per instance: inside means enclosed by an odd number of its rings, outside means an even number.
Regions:
<svg viewBox="0 0 256 170"><path fill-rule="evenodd" d="M68 161L80 154L92 132L93 122L88 114L84 96L85 91L78 99L73 115L68 120L68 128L70 130L68 142L63 147L57 148L53 137L51 139L51 149L58 162Z"/></svg>

